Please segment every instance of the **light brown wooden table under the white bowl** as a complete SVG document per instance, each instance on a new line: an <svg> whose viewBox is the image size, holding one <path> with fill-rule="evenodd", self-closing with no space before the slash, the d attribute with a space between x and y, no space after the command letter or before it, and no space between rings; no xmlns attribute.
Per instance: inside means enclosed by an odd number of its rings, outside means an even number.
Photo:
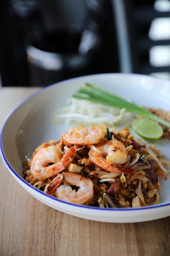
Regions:
<svg viewBox="0 0 170 256"><path fill-rule="evenodd" d="M0 88L0 126L38 88ZM39 202L0 158L0 256L170 256L170 217L141 223L77 218Z"/></svg>

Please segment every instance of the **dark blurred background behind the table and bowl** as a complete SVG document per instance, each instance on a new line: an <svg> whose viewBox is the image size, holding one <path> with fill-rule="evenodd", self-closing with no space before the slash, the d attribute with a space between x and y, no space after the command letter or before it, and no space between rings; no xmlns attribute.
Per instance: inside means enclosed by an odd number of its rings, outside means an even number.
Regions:
<svg viewBox="0 0 170 256"><path fill-rule="evenodd" d="M1 0L2 86L110 72L170 79L170 0Z"/></svg>

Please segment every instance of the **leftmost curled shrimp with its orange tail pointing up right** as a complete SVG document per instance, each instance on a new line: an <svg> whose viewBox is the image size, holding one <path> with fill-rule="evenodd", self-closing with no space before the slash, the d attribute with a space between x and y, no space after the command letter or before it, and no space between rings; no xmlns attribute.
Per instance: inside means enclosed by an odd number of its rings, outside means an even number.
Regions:
<svg viewBox="0 0 170 256"><path fill-rule="evenodd" d="M74 154L74 147L69 148L63 156L57 145L41 148L32 160L30 172L38 180L45 180L63 171L72 162Z"/></svg>

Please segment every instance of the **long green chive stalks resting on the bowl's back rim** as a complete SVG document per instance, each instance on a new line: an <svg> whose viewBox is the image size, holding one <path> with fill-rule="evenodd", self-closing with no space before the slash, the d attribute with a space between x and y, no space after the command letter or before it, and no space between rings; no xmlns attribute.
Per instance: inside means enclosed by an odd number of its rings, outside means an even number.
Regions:
<svg viewBox="0 0 170 256"><path fill-rule="evenodd" d="M119 109L125 108L129 112L141 115L143 117L148 117L152 120L159 122L160 124L170 127L170 122L161 119L160 117L151 113L149 110L141 108L135 105L134 103L126 101L125 99L111 92L108 92L102 88L99 88L95 85L91 85L89 83L86 83L83 88L76 91L76 93L73 94L73 97L77 99L86 99L88 101L101 103Z"/></svg>

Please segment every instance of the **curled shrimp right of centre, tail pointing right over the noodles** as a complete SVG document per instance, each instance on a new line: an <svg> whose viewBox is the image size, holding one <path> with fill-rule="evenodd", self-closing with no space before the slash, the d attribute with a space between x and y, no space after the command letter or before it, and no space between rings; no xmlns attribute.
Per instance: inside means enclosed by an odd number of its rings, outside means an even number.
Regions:
<svg viewBox="0 0 170 256"><path fill-rule="evenodd" d="M88 155L91 162L106 171L117 173L135 172L130 166L121 165L128 160L128 153L124 144L117 139L112 139L96 146L92 145Z"/></svg>

